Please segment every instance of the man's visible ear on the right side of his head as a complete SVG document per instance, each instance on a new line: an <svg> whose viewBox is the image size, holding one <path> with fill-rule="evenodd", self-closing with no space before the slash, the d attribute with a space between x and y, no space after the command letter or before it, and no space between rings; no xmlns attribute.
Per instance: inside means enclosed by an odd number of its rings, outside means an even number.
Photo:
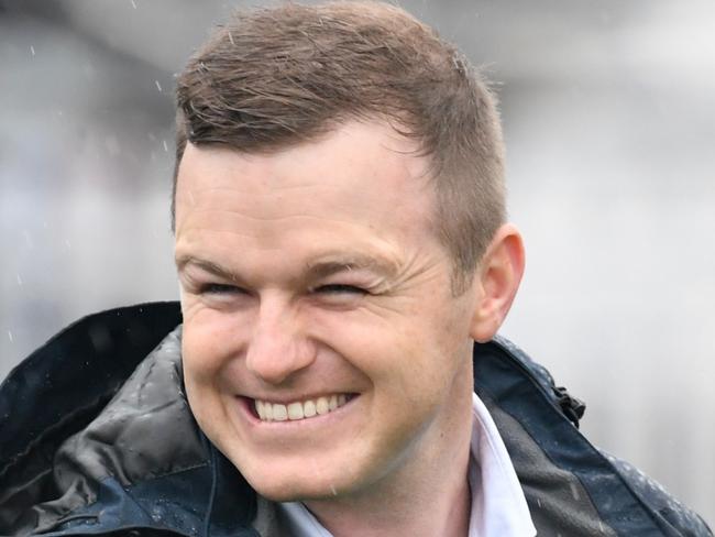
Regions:
<svg viewBox="0 0 715 537"><path fill-rule="evenodd" d="M476 294L470 335L479 342L490 341L504 322L524 274L524 242L510 223L494 234L476 270Z"/></svg>

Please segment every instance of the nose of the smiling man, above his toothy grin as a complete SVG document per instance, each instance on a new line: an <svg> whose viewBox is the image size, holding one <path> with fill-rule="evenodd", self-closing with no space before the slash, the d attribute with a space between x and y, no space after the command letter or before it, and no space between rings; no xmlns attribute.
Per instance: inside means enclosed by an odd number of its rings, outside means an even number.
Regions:
<svg viewBox="0 0 715 537"><path fill-rule="evenodd" d="M249 371L267 384L279 385L315 358L315 343L295 307L277 297L263 299L245 352Z"/></svg>

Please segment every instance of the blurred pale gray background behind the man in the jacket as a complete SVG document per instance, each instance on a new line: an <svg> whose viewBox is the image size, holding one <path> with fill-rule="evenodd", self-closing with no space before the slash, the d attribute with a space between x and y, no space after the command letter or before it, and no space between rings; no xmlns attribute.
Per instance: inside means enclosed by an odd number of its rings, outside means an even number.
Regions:
<svg viewBox="0 0 715 537"><path fill-rule="evenodd" d="M174 74L243 4L0 0L0 377L82 315L177 297ZM715 3L402 4L502 100L528 261L503 333L712 524Z"/></svg>

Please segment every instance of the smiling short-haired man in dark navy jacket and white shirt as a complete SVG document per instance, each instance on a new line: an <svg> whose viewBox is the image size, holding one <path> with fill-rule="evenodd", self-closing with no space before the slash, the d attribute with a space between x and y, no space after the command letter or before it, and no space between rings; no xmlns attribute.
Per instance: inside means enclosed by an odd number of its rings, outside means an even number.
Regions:
<svg viewBox="0 0 715 537"><path fill-rule="evenodd" d="M524 270L498 118L430 29L239 14L177 100L183 325L100 314L11 375L3 533L711 535L495 340Z"/></svg>

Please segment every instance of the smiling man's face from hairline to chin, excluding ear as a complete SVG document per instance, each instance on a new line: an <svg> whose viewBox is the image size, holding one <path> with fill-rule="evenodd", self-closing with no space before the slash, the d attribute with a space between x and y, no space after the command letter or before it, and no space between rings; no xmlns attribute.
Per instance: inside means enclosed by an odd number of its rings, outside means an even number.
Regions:
<svg viewBox="0 0 715 537"><path fill-rule="evenodd" d="M415 150L377 122L270 155L186 149L187 395L267 497L408 479L471 427L474 293L450 292Z"/></svg>

